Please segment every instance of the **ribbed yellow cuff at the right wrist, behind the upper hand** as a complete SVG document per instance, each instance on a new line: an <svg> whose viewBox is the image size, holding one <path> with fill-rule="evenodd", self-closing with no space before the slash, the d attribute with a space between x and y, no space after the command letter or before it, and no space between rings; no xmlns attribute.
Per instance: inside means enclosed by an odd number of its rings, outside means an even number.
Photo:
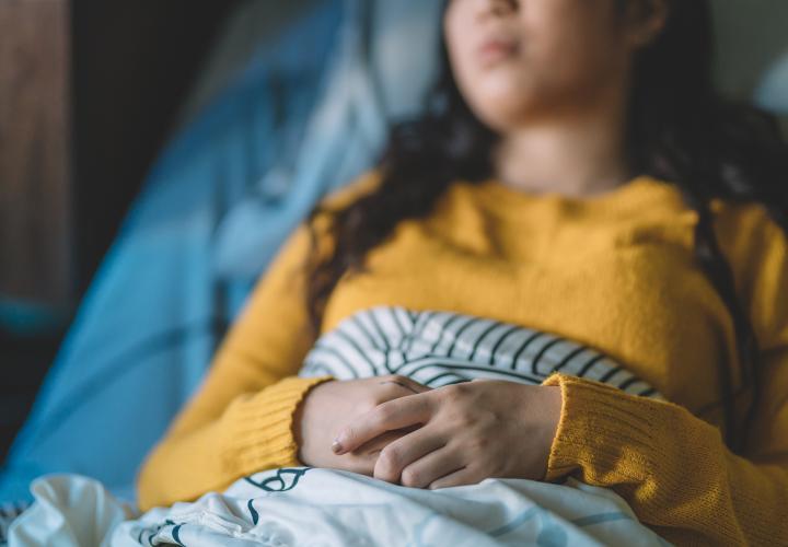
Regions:
<svg viewBox="0 0 788 547"><path fill-rule="evenodd" d="M578 469L581 478L594 481L613 477L641 480L644 472L653 468L646 459L657 445L658 423L644 411L642 397L561 373L542 385L560 386L564 398L545 480L557 480ZM640 465L633 466L635 462Z"/></svg>

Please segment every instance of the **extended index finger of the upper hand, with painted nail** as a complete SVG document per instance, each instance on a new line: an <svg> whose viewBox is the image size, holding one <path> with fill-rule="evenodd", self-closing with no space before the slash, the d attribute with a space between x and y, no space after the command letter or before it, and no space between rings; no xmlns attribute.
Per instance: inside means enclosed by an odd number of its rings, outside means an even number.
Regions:
<svg viewBox="0 0 788 547"><path fill-rule="evenodd" d="M429 420L430 408L430 400L424 394L387 400L354 418L339 431L332 450L335 454L344 454L386 431L425 423Z"/></svg>

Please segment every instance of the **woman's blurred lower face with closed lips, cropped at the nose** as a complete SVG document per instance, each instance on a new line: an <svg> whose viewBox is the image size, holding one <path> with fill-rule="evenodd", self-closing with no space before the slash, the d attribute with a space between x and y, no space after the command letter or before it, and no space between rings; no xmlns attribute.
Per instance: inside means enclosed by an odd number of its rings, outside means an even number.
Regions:
<svg viewBox="0 0 788 547"><path fill-rule="evenodd" d="M444 36L468 106L490 128L506 132L524 123L577 115L611 92L621 100L634 49L664 21L639 18L635 24L619 4L450 0Z"/></svg>

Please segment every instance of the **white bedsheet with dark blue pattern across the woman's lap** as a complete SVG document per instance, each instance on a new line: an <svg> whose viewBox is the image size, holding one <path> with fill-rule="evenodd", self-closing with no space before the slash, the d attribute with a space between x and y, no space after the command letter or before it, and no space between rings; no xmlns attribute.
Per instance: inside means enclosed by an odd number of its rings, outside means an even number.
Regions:
<svg viewBox="0 0 788 547"><path fill-rule="evenodd" d="M12 547L669 545L616 493L573 479L426 490L336 469L277 468L139 517L85 477L43 477L33 488L37 501L12 524Z"/></svg>

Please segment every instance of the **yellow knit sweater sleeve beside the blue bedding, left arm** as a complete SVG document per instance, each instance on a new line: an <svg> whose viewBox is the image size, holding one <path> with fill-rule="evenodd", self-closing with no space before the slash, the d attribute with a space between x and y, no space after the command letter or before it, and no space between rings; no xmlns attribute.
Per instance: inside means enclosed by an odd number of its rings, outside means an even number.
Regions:
<svg viewBox="0 0 788 547"><path fill-rule="evenodd" d="M312 339L300 275L309 248L301 225L285 243L222 341L197 393L137 478L138 503L190 501L270 467L302 465L292 417L331 376L297 376Z"/></svg>

